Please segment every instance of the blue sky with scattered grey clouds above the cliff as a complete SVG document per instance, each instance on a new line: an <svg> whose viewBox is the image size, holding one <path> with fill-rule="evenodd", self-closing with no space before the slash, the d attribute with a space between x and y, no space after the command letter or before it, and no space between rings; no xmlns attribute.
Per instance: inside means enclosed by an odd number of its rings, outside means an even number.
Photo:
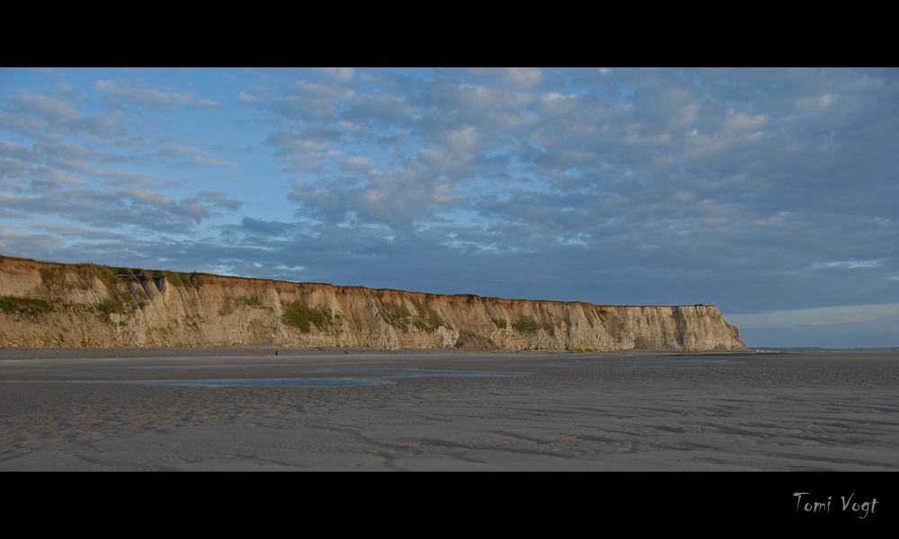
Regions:
<svg viewBox="0 0 899 539"><path fill-rule="evenodd" d="M899 346L897 69L0 68L0 254Z"/></svg>

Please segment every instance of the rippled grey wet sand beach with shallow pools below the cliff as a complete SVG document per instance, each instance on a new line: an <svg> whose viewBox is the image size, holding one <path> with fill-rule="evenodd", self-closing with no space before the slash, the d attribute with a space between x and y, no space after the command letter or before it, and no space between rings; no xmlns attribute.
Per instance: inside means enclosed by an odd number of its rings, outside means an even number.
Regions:
<svg viewBox="0 0 899 539"><path fill-rule="evenodd" d="M0 470L899 469L896 353L354 352L0 349Z"/></svg>

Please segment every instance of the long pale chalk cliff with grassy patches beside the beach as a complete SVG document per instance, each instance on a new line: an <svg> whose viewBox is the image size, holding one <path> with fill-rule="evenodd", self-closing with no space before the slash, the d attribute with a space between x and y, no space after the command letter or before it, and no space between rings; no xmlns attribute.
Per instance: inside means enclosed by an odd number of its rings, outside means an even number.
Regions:
<svg viewBox="0 0 899 539"><path fill-rule="evenodd" d="M717 307L438 296L0 257L0 346L743 350Z"/></svg>

